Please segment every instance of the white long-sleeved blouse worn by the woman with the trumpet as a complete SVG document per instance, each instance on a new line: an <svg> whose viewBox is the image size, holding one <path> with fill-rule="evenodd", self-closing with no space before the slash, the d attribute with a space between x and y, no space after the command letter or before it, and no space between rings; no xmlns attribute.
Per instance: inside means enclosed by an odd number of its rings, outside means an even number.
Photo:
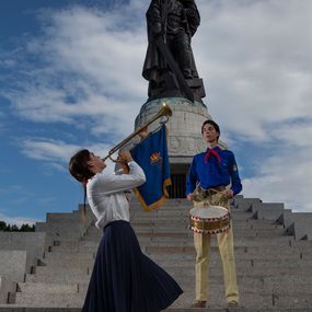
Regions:
<svg viewBox="0 0 312 312"><path fill-rule="evenodd" d="M130 220L125 190L143 184L146 175L135 161L130 161L128 165L130 169L128 174L117 175L103 170L86 184L88 201L97 219L95 226L99 229L115 220Z"/></svg>

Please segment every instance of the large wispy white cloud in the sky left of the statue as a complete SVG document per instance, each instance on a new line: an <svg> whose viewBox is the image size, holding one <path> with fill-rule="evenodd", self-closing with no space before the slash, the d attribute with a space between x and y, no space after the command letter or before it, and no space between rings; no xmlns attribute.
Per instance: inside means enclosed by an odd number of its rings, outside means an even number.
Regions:
<svg viewBox="0 0 312 312"><path fill-rule="evenodd" d="M120 27L120 11L74 7L46 12L45 35L26 45L38 57L37 67L25 59L18 67L18 88L5 92L15 112L36 123L74 125L83 116L93 120L94 135L128 132L147 97L147 82L140 76L146 35L134 23L139 20L131 5L126 9L130 19L123 21L134 24L131 28ZM123 127L116 129L116 124Z"/></svg>

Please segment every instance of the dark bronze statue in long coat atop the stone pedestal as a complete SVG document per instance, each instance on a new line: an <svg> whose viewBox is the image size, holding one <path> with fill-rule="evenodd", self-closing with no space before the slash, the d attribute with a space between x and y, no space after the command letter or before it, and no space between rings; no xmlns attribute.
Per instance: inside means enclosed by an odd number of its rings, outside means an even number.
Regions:
<svg viewBox="0 0 312 312"><path fill-rule="evenodd" d="M205 96L198 79L190 39L200 23L194 0L152 0L147 11L149 46L142 76L150 99Z"/></svg>

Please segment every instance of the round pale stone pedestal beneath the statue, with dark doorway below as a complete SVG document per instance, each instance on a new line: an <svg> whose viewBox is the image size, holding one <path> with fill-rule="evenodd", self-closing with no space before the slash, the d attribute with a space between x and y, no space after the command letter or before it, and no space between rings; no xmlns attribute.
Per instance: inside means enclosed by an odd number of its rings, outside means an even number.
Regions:
<svg viewBox="0 0 312 312"><path fill-rule="evenodd" d="M150 120L165 103L172 109L167 126L167 147L171 165L173 188L172 197L183 198L185 196L185 177L194 154L207 149L203 140L200 128L205 120L212 119L207 106L203 103L192 103L184 97L164 97L147 102L142 105L136 118L135 127L142 126ZM165 120L161 118L160 120ZM154 122L150 131L159 127Z"/></svg>

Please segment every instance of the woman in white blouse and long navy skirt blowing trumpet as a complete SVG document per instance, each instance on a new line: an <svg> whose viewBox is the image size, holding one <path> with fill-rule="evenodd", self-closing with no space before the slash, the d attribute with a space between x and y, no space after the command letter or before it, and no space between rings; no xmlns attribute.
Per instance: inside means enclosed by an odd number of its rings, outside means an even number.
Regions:
<svg viewBox="0 0 312 312"><path fill-rule="evenodd" d="M82 311L159 312L182 289L142 254L125 192L143 184L145 173L128 151L119 152L118 162L129 166L128 174L106 173L104 160L89 150L79 151L69 163L71 175L86 187L95 226L104 232Z"/></svg>

